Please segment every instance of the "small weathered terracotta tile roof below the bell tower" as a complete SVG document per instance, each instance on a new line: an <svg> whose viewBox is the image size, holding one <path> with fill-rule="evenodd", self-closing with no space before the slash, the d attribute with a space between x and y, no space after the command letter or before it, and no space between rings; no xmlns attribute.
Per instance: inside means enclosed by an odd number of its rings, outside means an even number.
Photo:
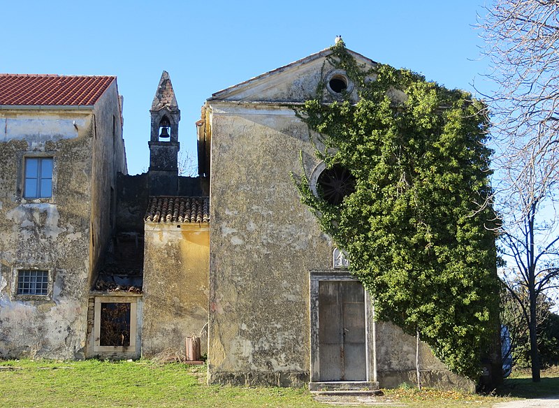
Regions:
<svg viewBox="0 0 559 408"><path fill-rule="evenodd" d="M210 222L209 197L150 197L145 222Z"/></svg>

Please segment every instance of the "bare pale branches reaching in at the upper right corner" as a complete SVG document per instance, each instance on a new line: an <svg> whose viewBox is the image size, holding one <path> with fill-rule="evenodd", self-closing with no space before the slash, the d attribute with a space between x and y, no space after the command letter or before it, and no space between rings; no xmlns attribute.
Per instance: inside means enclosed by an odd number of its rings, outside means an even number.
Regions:
<svg viewBox="0 0 559 408"><path fill-rule="evenodd" d="M495 0L479 24L491 61L493 122L507 154L525 150L559 175L559 0Z"/></svg>

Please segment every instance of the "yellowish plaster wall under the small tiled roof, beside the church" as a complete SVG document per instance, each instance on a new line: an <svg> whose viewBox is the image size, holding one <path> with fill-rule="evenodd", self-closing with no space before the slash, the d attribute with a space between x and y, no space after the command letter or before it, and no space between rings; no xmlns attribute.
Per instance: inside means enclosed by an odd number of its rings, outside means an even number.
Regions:
<svg viewBox="0 0 559 408"><path fill-rule="evenodd" d="M202 332L207 352L208 224L145 224L142 354L184 356L187 336Z"/></svg>

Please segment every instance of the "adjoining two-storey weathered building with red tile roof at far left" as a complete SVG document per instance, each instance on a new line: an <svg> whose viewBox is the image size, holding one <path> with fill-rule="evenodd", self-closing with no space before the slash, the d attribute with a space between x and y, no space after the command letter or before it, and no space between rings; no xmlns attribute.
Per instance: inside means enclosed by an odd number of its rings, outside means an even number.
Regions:
<svg viewBox="0 0 559 408"><path fill-rule="evenodd" d="M117 173L115 77L0 75L0 357L84 358Z"/></svg>

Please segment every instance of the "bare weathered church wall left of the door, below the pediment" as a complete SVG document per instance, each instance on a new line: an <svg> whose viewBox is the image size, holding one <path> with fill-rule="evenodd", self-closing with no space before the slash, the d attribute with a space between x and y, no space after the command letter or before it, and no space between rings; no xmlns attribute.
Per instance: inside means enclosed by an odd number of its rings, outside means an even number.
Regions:
<svg viewBox="0 0 559 408"><path fill-rule="evenodd" d="M211 383L309 379L309 271L332 266L331 240L290 172L316 159L289 108L212 103Z"/></svg>

